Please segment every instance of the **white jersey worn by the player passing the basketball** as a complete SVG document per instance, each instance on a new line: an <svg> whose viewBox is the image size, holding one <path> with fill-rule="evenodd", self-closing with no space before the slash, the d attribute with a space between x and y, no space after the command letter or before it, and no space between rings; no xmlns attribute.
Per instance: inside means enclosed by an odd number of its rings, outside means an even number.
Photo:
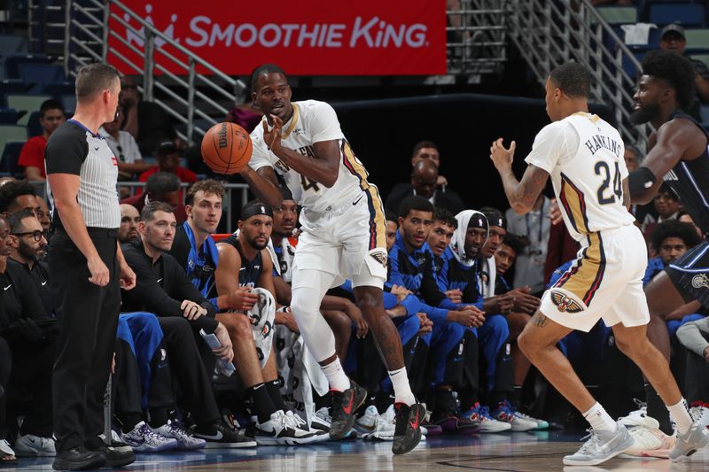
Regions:
<svg viewBox="0 0 709 472"><path fill-rule="evenodd" d="M328 189L322 183L311 181L286 166L269 151L264 143L261 124L251 134L253 155L249 166L253 170L258 170L262 166L273 167L277 174L284 177L293 199L313 212L323 212L354 200L362 190L369 188L370 184L367 182L367 171L362 166L362 162L354 157L345 135L339 128L337 114L329 104L316 100L293 102L292 105L293 116L284 124L281 144L303 156L314 157L314 143L338 140L340 150L338 180ZM266 118L264 117L263 120Z"/></svg>

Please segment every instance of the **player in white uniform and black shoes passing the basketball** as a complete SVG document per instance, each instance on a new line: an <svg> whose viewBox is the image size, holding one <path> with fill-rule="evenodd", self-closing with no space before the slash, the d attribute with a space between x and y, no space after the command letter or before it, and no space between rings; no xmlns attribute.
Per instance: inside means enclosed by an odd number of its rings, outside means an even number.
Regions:
<svg viewBox="0 0 709 472"><path fill-rule="evenodd" d="M325 292L349 279L392 379L397 410L392 451L407 453L421 438L425 407L411 392L401 339L382 305L386 227L377 187L367 182L367 171L329 104L291 102L291 88L278 66L258 67L251 83L253 101L266 116L251 134L253 155L241 174L261 201L276 207L283 199L280 175L303 208L291 310L330 383L330 435L344 437L352 429L354 411L367 395L342 370L332 330L320 314Z"/></svg>

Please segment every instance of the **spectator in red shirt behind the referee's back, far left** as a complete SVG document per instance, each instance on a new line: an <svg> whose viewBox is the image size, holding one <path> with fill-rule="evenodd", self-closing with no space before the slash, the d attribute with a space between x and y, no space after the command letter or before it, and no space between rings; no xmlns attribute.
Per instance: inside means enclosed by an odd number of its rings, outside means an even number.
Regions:
<svg viewBox="0 0 709 472"><path fill-rule="evenodd" d="M54 130L66 121L64 108L58 100L45 100L39 107L39 123L44 130L42 135L31 137L27 140L19 153L19 166L25 167L25 174L29 181L43 181L44 173L44 148L47 140Z"/></svg>

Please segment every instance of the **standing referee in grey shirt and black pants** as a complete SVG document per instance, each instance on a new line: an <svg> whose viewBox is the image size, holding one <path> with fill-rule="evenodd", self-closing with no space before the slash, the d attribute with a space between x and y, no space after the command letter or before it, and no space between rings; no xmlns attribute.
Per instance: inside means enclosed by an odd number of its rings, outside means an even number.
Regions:
<svg viewBox="0 0 709 472"><path fill-rule="evenodd" d="M52 377L57 470L115 466L134 457L131 452L121 461L98 438L121 287L136 284L117 241L116 158L98 135L102 124L113 121L120 92L112 66L82 67L74 118L51 135L44 154L52 207L50 291L60 323Z"/></svg>

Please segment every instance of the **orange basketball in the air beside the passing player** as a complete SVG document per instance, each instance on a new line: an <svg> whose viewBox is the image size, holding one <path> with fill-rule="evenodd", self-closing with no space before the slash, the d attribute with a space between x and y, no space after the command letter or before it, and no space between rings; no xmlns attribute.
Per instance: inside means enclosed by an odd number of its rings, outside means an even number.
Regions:
<svg viewBox="0 0 709 472"><path fill-rule="evenodd" d="M217 123L202 138L202 159L217 174L237 174L251 159L251 136L235 123Z"/></svg>

